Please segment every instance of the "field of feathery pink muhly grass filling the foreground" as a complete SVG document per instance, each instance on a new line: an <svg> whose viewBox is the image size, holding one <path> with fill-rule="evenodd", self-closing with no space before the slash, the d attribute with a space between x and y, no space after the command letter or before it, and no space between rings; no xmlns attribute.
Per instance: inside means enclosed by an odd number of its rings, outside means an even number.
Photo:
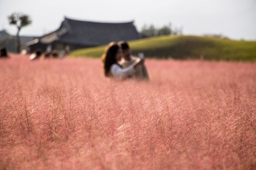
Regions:
<svg viewBox="0 0 256 170"><path fill-rule="evenodd" d="M0 60L0 169L255 169L256 63Z"/></svg>

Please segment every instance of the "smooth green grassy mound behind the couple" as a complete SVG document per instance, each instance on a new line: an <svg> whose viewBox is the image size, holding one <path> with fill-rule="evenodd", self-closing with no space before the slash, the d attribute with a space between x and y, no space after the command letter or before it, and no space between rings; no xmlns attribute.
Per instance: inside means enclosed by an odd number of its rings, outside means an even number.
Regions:
<svg viewBox="0 0 256 170"><path fill-rule="evenodd" d="M236 41L201 36L160 36L130 41L133 54L146 57L208 60L256 60L256 41ZM106 46L72 51L69 56L101 57Z"/></svg>

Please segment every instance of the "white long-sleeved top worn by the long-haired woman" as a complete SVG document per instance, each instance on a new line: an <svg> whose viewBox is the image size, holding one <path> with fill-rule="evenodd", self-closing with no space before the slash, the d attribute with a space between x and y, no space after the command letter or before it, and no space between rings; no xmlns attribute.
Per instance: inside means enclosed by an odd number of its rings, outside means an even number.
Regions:
<svg viewBox="0 0 256 170"><path fill-rule="evenodd" d="M132 76L136 71L133 68L133 65L126 68L121 68L117 64L112 64L112 66L110 67L110 72L114 78L123 80L128 78L129 76Z"/></svg>

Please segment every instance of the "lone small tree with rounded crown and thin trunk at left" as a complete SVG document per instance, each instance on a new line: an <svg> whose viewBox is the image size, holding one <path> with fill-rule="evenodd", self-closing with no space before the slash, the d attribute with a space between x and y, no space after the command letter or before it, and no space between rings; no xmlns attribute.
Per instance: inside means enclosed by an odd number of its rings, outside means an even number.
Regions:
<svg viewBox="0 0 256 170"><path fill-rule="evenodd" d="M8 16L8 21L10 25L16 25L18 31L16 35L16 41L17 41L17 52L20 52L20 37L19 32L20 29L23 27L26 27L27 25L30 25L32 23L30 17L23 13L12 13L10 16Z"/></svg>

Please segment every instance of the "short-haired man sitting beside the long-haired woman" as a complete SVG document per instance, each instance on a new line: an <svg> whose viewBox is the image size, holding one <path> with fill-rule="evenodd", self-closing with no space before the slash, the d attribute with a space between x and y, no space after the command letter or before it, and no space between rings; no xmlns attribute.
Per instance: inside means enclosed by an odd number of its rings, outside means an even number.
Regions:
<svg viewBox="0 0 256 170"><path fill-rule="evenodd" d="M123 60L121 61L120 65L123 68L126 68L126 67L130 66L132 63L134 63L137 58L135 58L131 55L131 49L126 41L121 41L121 42L119 42L119 44L123 50ZM142 56L142 55L143 54L141 54L141 56L139 56L139 57L144 58L144 56ZM145 64L141 64L140 66L138 66L136 68L134 77L138 80L149 80L147 68L146 68Z"/></svg>

